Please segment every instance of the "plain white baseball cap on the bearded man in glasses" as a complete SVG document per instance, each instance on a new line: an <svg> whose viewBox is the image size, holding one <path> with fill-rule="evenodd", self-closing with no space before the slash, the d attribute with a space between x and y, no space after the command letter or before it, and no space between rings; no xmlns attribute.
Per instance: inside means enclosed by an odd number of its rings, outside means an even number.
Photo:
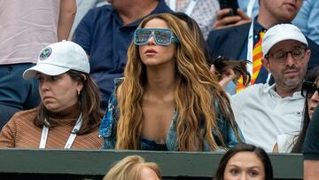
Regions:
<svg viewBox="0 0 319 180"><path fill-rule="evenodd" d="M279 42L284 40L295 40L307 45L307 39L300 29L292 24L277 24L270 27L262 38L261 49L263 57L268 54L268 51Z"/></svg>

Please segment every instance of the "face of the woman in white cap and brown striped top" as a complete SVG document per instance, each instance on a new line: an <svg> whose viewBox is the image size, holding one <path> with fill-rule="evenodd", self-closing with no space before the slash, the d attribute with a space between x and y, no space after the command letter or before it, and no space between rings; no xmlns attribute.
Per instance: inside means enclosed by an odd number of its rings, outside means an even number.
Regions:
<svg viewBox="0 0 319 180"><path fill-rule="evenodd" d="M43 105L51 112L58 112L77 102L77 90L82 90L82 82L74 81L69 74L56 76L36 74Z"/></svg>

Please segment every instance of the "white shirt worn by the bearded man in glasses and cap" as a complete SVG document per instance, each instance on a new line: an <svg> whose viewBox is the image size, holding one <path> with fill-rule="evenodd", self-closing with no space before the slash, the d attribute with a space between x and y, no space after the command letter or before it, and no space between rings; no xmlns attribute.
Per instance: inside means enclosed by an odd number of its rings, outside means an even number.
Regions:
<svg viewBox="0 0 319 180"><path fill-rule="evenodd" d="M305 103L299 92L281 98L275 84L254 84L230 97L235 120L245 141L272 152L277 136L300 131Z"/></svg>

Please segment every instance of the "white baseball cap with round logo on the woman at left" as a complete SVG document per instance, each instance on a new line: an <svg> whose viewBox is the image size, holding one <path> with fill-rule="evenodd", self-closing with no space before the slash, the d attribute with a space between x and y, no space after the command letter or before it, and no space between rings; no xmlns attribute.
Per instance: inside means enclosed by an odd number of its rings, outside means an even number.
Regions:
<svg viewBox="0 0 319 180"><path fill-rule="evenodd" d="M89 59L80 45L63 40L43 48L35 67L28 68L23 73L23 78L33 78L37 72L47 75L64 74L71 69L89 74Z"/></svg>

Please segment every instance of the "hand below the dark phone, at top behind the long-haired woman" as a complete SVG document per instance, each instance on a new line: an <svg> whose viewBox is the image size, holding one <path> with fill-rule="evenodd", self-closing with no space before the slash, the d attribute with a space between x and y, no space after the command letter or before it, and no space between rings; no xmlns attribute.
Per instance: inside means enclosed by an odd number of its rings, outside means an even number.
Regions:
<svg viewBox="0 0 319 180"><path fill-rule="evenodd" d="M222 9L216 13L216 21L214 22L214 28L225 28L225 27L233 27L245 24L247 22L252 21L251 18L249 18L245 12L243 12L241 9L237 9L236 16L227 16L232 11L230 8Z"/></svg>

